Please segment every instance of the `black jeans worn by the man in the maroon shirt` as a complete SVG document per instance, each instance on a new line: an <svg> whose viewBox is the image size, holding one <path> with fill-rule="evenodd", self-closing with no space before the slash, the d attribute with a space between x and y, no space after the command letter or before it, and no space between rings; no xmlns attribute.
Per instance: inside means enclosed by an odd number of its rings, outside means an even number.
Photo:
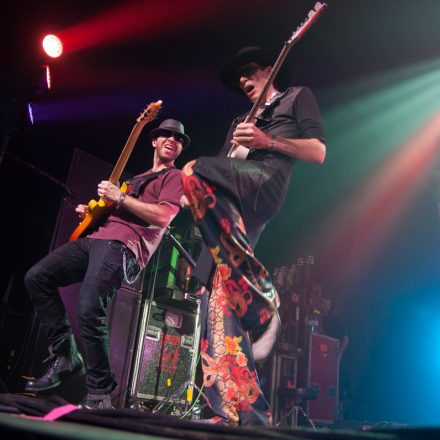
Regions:
<svg viewBox="0 0 440 440"><path fill-rule="evenodd" d="M106 306L124 277L123 252L130 268L129 275L132 275L139 266L123 243L80 238L51 252L25 276L26 287L46 330L50 351L54 353L72 335L58 287L82 281L77 313L89 393L108 394L116 387L109 362Z"/></svg>

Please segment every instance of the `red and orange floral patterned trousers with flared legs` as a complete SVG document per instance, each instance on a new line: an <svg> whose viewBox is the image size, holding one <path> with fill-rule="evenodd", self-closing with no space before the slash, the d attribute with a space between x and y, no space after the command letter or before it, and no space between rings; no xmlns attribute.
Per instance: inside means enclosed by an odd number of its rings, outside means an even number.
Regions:
<svg viewBox="0 0 440 440"><path fill-rule="evenodd" d="M255 371L248 334L277 315L278 294L254 257L240 213L220 188L184 169L183 187L193 217L214 259L209 290L201 296L203 383L215 422L271 424Z"/></svg>

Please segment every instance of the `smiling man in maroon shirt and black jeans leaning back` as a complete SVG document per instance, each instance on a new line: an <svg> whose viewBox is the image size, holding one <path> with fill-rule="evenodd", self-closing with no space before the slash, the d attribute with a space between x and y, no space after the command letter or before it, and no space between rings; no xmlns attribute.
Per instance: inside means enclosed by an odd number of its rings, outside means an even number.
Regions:
<svg viewBox="0 0 440 440"><path fill-rule="evenodd" d="M108 181L98 185L98 196L114 209L91 234L55 249L25 276L25 284L49 339L48 366L39 378L26 383L26 391L55 388L72 376L86 374L84 408L111 408L110 393L116 387L109 364L106 304L121 286L131 283L146 266L166 227L180 209L181 171L174 161L190 139L183 124L166 119L150 133L153 166L128 181L121 190ZM80 218L86 205L76 208ZM82 282L78 321L84 361L77 350L58 287Z"/></svg>

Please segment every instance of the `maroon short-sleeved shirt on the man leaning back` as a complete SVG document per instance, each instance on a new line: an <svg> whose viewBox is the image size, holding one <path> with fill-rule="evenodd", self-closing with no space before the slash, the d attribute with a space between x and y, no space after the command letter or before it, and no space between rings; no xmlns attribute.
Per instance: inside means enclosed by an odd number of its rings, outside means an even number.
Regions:
<svg viewBox="0 0 440 440"><path fill-rule="evenodd" d="M151 173L152 170L148 170L136 176L136 178ZM131 191L127 194L135 197L131 194ZM177 214L180 209L182 195L181 171L171 168L149 181L137 198L146 203L170 203L176 208ZM143 269L159 245L164 232L165 228L145 223L122 206L118 210L115 209L107 221L88 237L121 241L134 253L140 268Z"/></svg>

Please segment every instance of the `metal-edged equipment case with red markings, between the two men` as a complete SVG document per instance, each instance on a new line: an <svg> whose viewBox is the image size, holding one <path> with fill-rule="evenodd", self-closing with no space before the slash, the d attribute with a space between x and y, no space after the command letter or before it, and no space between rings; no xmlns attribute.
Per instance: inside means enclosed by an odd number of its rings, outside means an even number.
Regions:
<svg viewBox="0 0 440 440"><path fill-rule="evenodd" d="M145 301L130 387L131 406L170 397L186 402L186 396L180 394L194 381L200 338L198 304L192 306L191 310Z"/></svg>

